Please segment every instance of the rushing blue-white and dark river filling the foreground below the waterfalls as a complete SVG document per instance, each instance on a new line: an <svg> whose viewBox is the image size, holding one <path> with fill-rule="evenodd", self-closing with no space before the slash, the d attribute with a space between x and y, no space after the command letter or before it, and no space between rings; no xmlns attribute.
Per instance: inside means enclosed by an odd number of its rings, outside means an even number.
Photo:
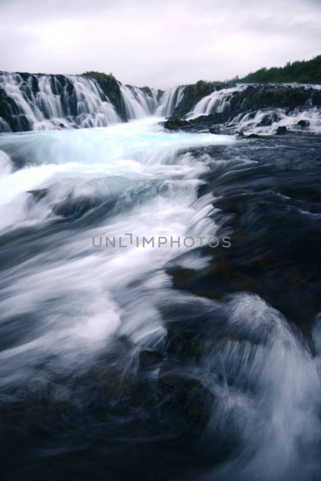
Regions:
<svg viewBox="0 0 321 481"><path fill-rule="evenodd" d="M0 135L11 478L317 480L320 136L160 120Z"/></svg>

